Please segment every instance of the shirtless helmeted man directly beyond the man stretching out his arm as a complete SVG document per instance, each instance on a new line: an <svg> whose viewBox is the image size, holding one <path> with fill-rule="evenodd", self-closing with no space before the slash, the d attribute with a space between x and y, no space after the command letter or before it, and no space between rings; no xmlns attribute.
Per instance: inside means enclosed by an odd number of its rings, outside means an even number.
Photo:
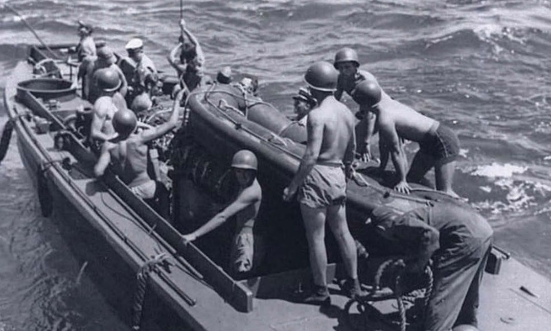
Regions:
<svg viewBox="0 0 551 331"><path fill-rule="evenodd" d="M94 102L90 140L101 143L115 136L115 129L111 120L118 110L117 104L120 103L117 102L116 92L121 86L121 79L118 78L116 71L103 68L94 73L94 80L101 94Z"/></svg>

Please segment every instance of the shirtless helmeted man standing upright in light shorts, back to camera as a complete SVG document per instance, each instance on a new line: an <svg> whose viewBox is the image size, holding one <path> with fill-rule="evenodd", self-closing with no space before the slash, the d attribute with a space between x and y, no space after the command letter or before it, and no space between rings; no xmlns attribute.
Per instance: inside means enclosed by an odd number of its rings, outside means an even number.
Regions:
<svg viewBox="0 0 551 331"><path fill-rule="evenodd" d="M314 289L305 302L316 305L331 303L326 276L326 220L337 239L349 277L343 289L350 297L361 293L356 248L348 229L345 208L345 173L352 172L356 147L354 116L347 106L333 97L337 76L338 72L325 61L314 63L304 75L319 106L308 115L306 151L298 172L283 191L285 201L291 201L298 193L314 278Z"/></svg>

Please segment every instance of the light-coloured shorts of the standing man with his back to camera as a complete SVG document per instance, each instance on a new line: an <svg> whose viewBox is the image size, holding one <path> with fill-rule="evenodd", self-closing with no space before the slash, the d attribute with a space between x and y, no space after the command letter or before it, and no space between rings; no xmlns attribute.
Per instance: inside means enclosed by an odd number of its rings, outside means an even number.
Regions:
<svg viewBox="0 0 551 331"><path fill-rule="evenodd" d="M302 181L297 200L311 208L344 205L346 179L342 164L315 164Z"/></svg>

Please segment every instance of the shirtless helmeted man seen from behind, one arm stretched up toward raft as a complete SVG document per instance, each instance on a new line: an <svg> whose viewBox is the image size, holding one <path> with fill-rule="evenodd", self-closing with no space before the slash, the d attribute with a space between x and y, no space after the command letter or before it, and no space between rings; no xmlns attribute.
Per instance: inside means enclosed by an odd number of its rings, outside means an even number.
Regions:
<svg viewBox="0 0 551 331"><path fill-rule="evenodd" d="M136 115L128 109L118 110L112 119L112 125L117 132L117 136L105 141L101 146L100 157L94 167L96 177L104 174L111 158L114 158L117 161L115 163L116 173L121 176L121 179L132 192L142 199L152 202L156 190L160 188L158 188L159 184L151 179L147 173L147 143L176 127L182 95L183 91L176 96L168 121L138 133L134 133L138 125ZM159 199L158 210L161 215L166 217L168 216L166 212L169 210L168 196L165 198Z"/></svg>

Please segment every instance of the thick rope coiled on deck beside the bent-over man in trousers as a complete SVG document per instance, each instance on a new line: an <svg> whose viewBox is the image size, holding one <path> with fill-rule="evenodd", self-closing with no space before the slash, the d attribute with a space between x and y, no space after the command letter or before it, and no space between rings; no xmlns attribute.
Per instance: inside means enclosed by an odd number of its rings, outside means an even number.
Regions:
<svg viewBox="0 0 551 331"><path fill-rule="evenodd" d="M383 301L388 300L390 298L395 298L398 306L398 312L400 316L400 330L406 331L407 326L407 319L406 319L406 308L404 306L404 301L409 301L414 303L415 300L419 297L423 297L423 307L421 310L421 316L424 317L426 307L428 305L428 302L430 300L430 296L433 290L433 271L430 268L430 265L427 265L424 270L423 276L424 279L424 287L422 289L415 289L406 293L403 293L404 290L402 285L402 277L404 276L404 270L406 268L406 264L404 263L403 259L388 259L384 261L379 268L377 269L377 272L375 274L374 279L374 286L372 287L372 290L368 295L355 297L350 299L347 304L344 306L344 311L347 314L347 321L348 324L351 325L353 328L354 325L350 323L350 308L354 303L357 304L356 309L358 313L362 317L364 317L365 324L368 323L369 316L372 311L374 311L375 308L371 307L371 303L375 301ZM391 281L388 284L388 287L391 287L392 295L391 296L380 296L376 297L377 290L380 290L381 283L383 281L383 276L390 276ZM388 282L388 279L386 279ZM376 309L375 309L376 310Z"/></svg>

